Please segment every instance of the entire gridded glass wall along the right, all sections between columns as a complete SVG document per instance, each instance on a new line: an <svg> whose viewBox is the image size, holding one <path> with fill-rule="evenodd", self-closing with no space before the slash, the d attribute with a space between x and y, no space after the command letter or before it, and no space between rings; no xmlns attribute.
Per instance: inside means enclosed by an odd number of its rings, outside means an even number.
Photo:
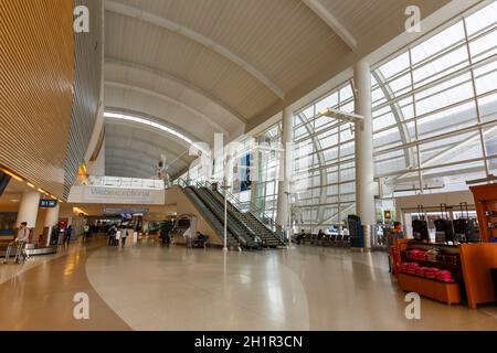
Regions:
<svg viewBox="0 0 497 353"><path fill-rule="evenodd" d="M430 34L372 67L376 176L382 199L467 189L472 179L497 174L497 1ZM353 126L325 117L326 108L353 113L351 83L295 111L296 157L292 218L316 232L356 213ZM256 142L281 142L281 122ZM250 197L276 217L279 154L254 150L257 181ZM303 159L306 159L305 161ZM244 195L244 200L248 193ZM391 205L390 205L390 208Z"/></svg>

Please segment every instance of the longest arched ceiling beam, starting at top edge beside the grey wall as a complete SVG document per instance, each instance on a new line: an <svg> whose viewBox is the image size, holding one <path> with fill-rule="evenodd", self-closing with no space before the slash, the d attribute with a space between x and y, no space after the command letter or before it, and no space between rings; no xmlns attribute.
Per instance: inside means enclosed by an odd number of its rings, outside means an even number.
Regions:
<svg viewBox="0 0 497 353"><path fill-rule="evenodd" d="M246 71L248 74L251 74L253 77L255 77L257 81L260 81L264 86L266 86L271 92L273 92L279 99L285 99L285 93L282 88L279 88L274 82L272 82L265 74L263 74L261 71L255 68L252 64L236 55L235 53L231 52L229 49L222 46L221 44L216 43L215 41L207 38L205 35L198 33L180 23L170 21L168 19L158 17L154 13L126 6L123 3L118 3L115 1L105 1L105 9L107 11L118 13L121 15L126 15L133 19L138 19L148 23L151 23L154 25L160 26L165 30L171 31L176 34L182 35L184 38L188 38L189 40L192 40L207 49L216 52L218 54L224 56L230 62L236 64L237 66L242 67L244 71Z"/></svg>

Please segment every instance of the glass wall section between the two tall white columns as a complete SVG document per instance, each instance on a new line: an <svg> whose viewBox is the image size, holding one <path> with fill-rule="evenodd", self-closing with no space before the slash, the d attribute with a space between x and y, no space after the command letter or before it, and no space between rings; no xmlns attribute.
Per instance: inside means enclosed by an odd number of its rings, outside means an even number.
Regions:
<svg viewBox="0 0 497 353"><path fill-rule="evenodd" d="M353 125L322 116L327 108L355 111L350 82L294 115L294 143L310 153L294 159L296 182L307 179L308 184L293 197L292 218L311 232L342 224L356 212Z"/></svg>

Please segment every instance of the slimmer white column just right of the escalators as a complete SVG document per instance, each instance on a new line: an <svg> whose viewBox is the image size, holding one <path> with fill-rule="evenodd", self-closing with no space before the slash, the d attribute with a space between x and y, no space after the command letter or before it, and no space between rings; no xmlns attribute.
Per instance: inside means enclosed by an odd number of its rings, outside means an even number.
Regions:
<svg viewBox="0 0 497 353"><path fill-rule="evenodd" d="M282 146L285 149L283 153L279 153L279 181L278 181L278 199L277 199L277 214L276 223L285 228L288 224L288 196L289 192L289 179L288 179L288 165L290 161L289 151L286 150L287 145L292 142L292 127L293 127L294 114L292 109L283 109L283 122L282 122Z"/></svg>

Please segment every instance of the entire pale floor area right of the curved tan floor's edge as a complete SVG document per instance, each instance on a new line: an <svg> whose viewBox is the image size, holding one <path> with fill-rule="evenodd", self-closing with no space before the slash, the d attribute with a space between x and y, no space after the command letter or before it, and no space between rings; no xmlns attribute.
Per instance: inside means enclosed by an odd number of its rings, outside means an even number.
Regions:
<svg viewBox="0 0 497 353"><path fill-rule="evenodd" d="M408 320L385 254L303 246L229 253L101 248L86 270L135 330L497 330L496 310L423 299ZM489 310L489 311L488 311Z"/></svg>

